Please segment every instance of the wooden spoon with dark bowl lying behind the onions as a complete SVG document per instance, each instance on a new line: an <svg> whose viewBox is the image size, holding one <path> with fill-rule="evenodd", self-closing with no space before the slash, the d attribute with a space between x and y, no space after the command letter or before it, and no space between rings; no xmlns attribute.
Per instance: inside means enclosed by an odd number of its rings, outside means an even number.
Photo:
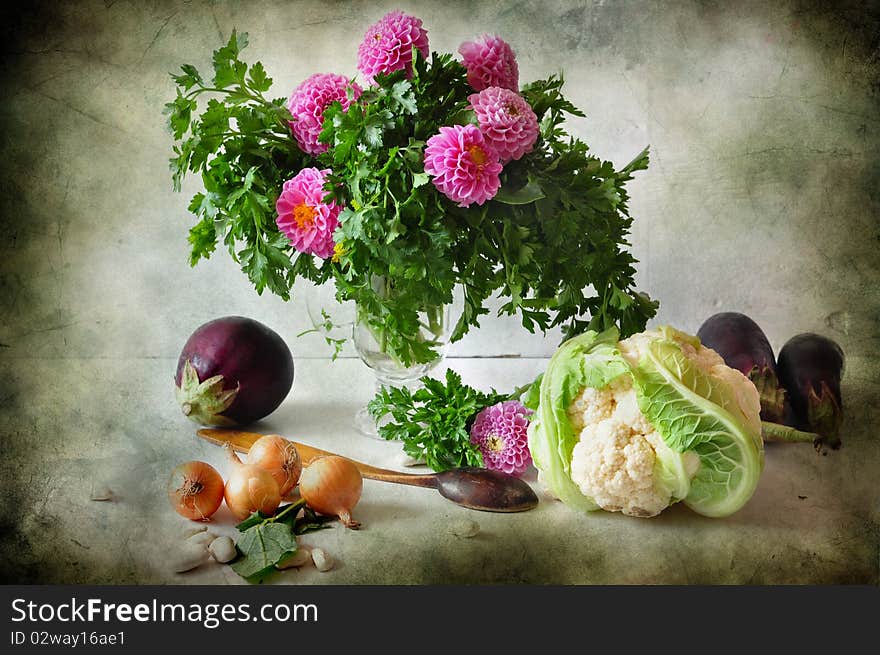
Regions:
<svg viewBox="0 0 880 655"><path fill-rule="evenodd" d="M225 428L202 428L198 431L198 435L221 446L228 443L241 453L248 452L254 442L263 436L256 432ZM303 466L308 466L318 457L335 454L298 441L292 443L296 446ZM441 473L399 473L351 461L365 478L436 489L444 498L469 509L486 512L524 512L538 504L538 496L528 483L501 471L465 467Z"/></svg>

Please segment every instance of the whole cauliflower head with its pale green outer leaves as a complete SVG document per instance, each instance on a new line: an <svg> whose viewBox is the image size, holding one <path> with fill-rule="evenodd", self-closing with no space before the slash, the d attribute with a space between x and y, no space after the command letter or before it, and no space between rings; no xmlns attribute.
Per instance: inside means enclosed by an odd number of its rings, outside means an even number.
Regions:
<svg viewBox="0 0 880 655"><path fill-rule="evenodd" d="M684 332L575 337L534 395L529 447L539 479L579 509L650 517L684 501L725 516L757 485L758 392Z"/></svg>

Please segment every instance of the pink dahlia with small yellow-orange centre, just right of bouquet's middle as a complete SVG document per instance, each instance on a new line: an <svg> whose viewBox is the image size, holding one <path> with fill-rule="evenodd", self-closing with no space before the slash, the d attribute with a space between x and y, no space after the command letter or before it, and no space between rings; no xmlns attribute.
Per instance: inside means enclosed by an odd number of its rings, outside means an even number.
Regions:
<svg viewBox="0 0 880 655"><path fill-rule="evenodd" d="M476 125L441 127L425 146L425 172L459 207L482 205L501 186L498 153Z"/></svg>

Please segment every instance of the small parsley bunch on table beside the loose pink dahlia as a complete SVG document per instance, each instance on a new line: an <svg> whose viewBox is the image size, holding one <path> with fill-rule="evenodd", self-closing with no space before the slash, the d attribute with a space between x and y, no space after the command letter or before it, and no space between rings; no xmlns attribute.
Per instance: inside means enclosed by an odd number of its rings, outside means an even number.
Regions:
<svg viewBox="0 0 880 655"><path fill-rule="evenodd" d="M483 393L462 384L449 369L446 383L423 377L413 392L406 387L382 387L367 409L379 424L383 439L403 442L403 451L435 471L459 466L483 466L479 449L470 441L470 427L484 408L508 400L494 389ZM386 416L386 424L381 421Z"/></svg>

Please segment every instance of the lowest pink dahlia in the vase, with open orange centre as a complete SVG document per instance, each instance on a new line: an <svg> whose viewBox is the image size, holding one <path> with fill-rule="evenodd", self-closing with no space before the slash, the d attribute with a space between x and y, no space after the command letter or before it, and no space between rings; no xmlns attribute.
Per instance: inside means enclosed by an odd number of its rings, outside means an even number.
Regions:
<svg viewBox="0 0 880 655"><path fill-rule="evenodd" d="M284 183L275 203L275 222L293 247L322 259L333 256L333 231L339 225L342 210L335 202L324 202L329 172L330 169L302 169Z"/></svg>

